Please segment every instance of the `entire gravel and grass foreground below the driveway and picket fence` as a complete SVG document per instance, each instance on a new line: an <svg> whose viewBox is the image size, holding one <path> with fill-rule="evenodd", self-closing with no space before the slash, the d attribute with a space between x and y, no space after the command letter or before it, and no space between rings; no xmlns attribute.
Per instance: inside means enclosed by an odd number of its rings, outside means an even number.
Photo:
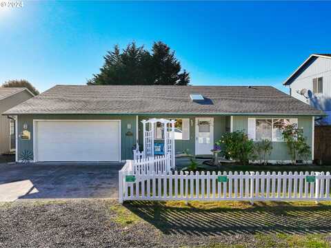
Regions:
<svg viewBox="0 0 331 248"><path fill-rule="evenodd" d="M330 205L168 204L6 203L0 247L330 247Z"/></svg>

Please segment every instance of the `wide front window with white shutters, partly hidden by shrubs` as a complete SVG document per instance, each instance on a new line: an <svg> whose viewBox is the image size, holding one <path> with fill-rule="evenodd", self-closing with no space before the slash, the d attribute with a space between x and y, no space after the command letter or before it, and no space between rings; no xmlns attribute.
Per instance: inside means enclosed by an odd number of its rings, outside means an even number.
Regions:
<svg viewBox="0 0 331 248"><path fill-rule="evenodd" d="M297 118L248 118L248 137L254 141L283 141L283 129Z"/></svg>

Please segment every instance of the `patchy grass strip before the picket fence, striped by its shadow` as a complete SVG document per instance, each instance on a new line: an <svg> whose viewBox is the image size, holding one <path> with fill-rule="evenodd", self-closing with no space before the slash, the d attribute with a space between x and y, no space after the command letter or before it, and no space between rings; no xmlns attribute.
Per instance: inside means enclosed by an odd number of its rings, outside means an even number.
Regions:
<svg viewBox="0 0 331 248"><path fill-rule="evenodd" d="M123 210L126 208L126 210ZM121 209L121 210L119 210ZM117 206L122 225L148 222L163 234L228 236L201 247L331 247L331 203L131 202ZM135 215L135 216L134 216ZM236 236L248 240L236 240Z"/></svg>

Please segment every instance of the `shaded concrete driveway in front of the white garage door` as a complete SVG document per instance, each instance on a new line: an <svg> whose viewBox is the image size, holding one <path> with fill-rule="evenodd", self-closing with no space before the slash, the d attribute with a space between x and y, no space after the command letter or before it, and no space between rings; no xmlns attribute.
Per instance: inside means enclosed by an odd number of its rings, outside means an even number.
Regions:
<svg viewBox="0 0 331 248"><path fill-rule="evenodd" d="M0 201L117 198L122 163L0 163Z"/></svg>

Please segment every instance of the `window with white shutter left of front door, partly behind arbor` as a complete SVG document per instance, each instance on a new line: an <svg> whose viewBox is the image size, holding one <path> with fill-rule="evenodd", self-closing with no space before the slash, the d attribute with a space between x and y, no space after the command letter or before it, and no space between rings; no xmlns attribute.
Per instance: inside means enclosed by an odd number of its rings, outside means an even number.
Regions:
<svg viewBox="0 0 331 248"><path fill-rule="evenodd" d="M190 119L178 118L174 119L174 139L175 140L189 140L190 139ZM154 138L163 139L163 123L156 123L154 126ZM168 124L168 130L171 131L171 124Z"/></svg>

